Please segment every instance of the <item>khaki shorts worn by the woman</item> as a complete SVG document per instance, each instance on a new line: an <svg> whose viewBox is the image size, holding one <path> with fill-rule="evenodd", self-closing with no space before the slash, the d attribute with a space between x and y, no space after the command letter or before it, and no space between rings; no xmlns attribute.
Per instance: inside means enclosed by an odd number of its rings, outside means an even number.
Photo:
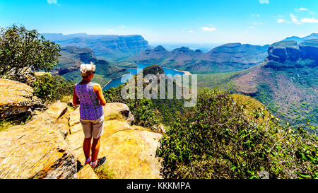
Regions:
<svg viewBox="0 0 318 193"><path fill-rule="evenodd" d="M80 119L83 127L85 138L98 139L102 136L104 126L104 115L94 121Z"/></svg>

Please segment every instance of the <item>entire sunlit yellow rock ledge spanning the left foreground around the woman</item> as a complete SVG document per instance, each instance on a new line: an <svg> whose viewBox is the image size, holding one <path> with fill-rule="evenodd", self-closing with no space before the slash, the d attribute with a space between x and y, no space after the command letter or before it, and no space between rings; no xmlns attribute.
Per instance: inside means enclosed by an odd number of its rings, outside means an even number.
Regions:
<svg viewBox="0 0 318 193"><path fill-rule="evenodd" d="M160 178L155 151L162 134L131 125L134 115L125 104L107 103L104 110L102 168L83 167L79 109L57 102L30 122L0 131L0 178Z"/></svg>

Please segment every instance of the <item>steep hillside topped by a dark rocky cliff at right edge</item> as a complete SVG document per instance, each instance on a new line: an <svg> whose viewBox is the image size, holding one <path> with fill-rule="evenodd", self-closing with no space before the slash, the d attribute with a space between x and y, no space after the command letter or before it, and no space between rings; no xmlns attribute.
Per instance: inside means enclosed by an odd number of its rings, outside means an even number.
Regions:
<svg viewBox="0 0 318 193"><path fill-rule="evenodd" d="M318 123L318 41L276 42L257 66L231 74L199 75L199 87L232 88L257 98L293 125Z"/></svg>

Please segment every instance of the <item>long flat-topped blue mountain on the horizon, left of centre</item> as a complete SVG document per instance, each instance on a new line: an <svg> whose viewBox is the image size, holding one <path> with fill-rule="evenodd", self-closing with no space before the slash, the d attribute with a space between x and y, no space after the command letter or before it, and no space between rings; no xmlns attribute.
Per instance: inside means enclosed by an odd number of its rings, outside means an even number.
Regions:
<svg viewBox="0 0 318 193"><path fill-rule="evenodd" d="M150 48L141 35L87 35L78 33L63 35L61 33L43 34L47 40L57 42L62 47L89 47L97 57L109 61L131 57Z"/></svg>

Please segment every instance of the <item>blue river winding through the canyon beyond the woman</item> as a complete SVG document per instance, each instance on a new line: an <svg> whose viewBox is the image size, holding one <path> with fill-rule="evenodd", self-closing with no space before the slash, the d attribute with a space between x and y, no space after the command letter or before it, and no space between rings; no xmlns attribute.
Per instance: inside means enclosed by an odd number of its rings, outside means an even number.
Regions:
<svg viewBox="0 0 318 193"><path fill-rule="evenodd" d="M129 74L125 74L124 76L121 76L119 78L112 78L112 80L109 83L107 83L107 85L104 88L102 88L102 90L108 90L112 87L117 87L117 86L121 85L122 83L125 83L126 81L129 80L129 78L131 78L131 76L139 73L139 71L141 71L141 69L144 69L147 66L151 66L151 65L153 65L153 64L137 64L138 68L127 69L130 72ZM167 76L175 76L175 75L184 75L185 74L183 71L177 71L175 69L163 68L163 71L165 71L165 74Z"/></svg>

